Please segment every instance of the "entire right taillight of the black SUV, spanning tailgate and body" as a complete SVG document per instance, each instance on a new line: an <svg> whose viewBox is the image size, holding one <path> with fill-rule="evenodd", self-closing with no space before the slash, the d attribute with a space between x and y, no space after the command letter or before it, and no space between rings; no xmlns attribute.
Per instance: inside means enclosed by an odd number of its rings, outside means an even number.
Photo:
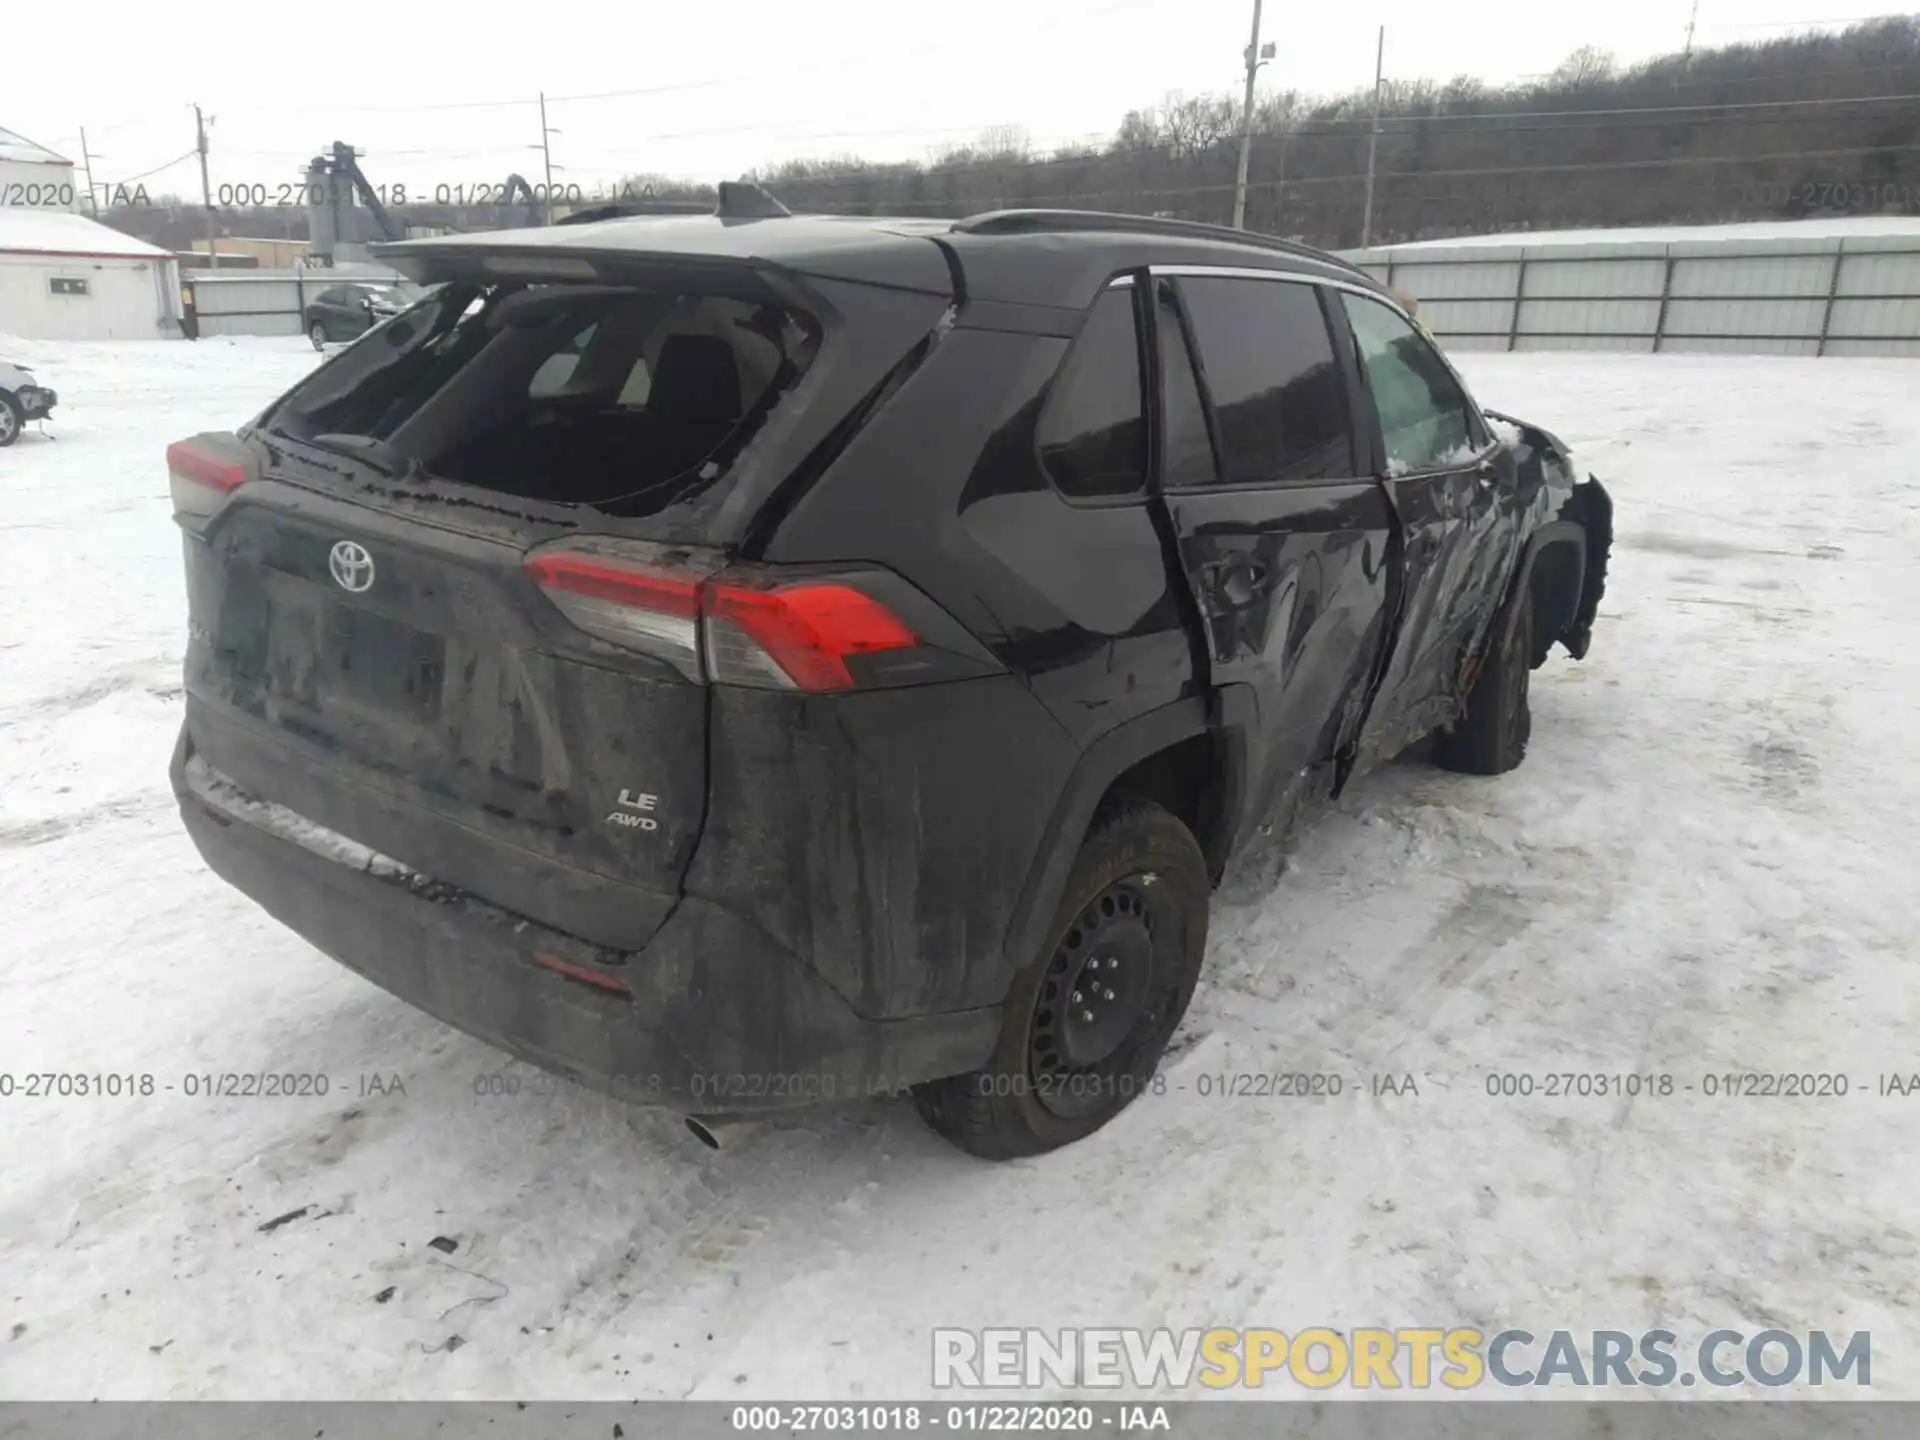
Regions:
<svg viewBox="0 0 1920 1440"><path fill-rule="evenodd" d="M945 670L922 657L889 676L862 674L864 657L904 659L927 643L851 576L710 574L568 545L536 551L526 572L589 636L666 660L687 680L833 693Z"/></svg>

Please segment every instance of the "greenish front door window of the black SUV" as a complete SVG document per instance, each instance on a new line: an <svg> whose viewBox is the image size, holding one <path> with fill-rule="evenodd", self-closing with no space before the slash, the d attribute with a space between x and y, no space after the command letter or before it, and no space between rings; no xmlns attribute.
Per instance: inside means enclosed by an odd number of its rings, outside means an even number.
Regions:
<svg viewBox="0 0 1920 1440"><path fill-rule="evenodd" d="M1344 294L1392 470L1465 465L1484 444L1478 417L1440 351L1377 300Z"/></svg>

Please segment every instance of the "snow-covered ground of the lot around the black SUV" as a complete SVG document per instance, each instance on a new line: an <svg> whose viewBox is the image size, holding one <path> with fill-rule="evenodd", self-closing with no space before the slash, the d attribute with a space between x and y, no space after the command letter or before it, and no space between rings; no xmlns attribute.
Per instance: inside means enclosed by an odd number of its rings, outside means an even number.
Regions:
<svg viewBox="0 0 1920 1440"><path fill-rule="evenodd" d="M1398 762L1236 866L1167 1092L996 1167L906 1104L707 1152L213 879L161 449L313 355L27 349L63 399L0 451L0 1071L173 1091L0 1098L0 1396L912 1396L935 1325L1870 1329L1920 1396L1920 1098L1874 1092L1920 1069L1920 365L1465 355L1613 488L1594 657L1515 776ZM1273 1069L1346 1092L1200 1092ZM1486 1092L1569 1069L1676 1091Z"/></svg>

